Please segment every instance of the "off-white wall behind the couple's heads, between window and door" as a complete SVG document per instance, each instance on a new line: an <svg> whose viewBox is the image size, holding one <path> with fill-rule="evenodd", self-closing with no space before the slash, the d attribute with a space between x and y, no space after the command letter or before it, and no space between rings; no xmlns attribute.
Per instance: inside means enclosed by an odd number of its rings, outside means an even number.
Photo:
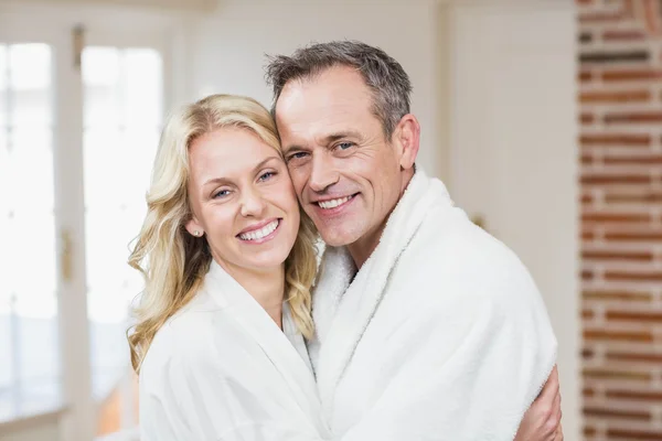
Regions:
<svg viewBox="0 0 662 441"><path fill-rule="evenodd" d="M362 40L385 50L409 74L413 111L423 126L419 163L437 174L435 7L416 0L273 3L224 1L214 15L192 26L185 44L193 50L186 55L189 96L179 100L233 93L270 106L265 53L291 54L310 41Z"/></svg>

